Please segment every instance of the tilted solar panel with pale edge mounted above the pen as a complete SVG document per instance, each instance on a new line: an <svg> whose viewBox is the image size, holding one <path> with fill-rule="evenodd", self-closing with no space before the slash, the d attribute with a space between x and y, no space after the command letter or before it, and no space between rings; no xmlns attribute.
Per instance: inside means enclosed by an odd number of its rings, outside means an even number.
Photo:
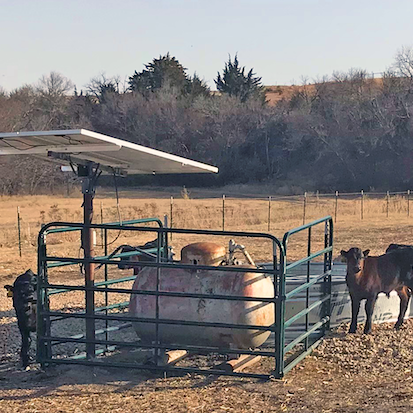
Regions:
<svg viewBox="0 0 413 413"><path fill-rule="evenodd" d="M0 155L99 164L127 174L217 173L218 168L86 129L0 133Z"/></svg>

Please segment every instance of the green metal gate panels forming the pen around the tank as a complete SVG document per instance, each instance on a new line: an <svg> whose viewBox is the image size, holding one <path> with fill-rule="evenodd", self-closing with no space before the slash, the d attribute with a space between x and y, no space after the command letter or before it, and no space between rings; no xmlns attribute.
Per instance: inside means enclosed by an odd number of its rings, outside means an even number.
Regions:
<svg viewBox="0 0 413 413"><path fill-rule="evenodd" d="M135 224L141 225L146 222L156 222L157 228L149 228L143 226L134 226ZM312 231L315 227L324 226L324 239L323 248L312 252ZM331 259L332 259L332 243L333 243L333 222L331 217L325 217L323 219L311 222L307 225L303 225L299 228L291 230L284 235L283 241L279 241L276 237L265 233L256 232L241 232L241 231L212 231L212 230L190 230L190 229L171 229L164 228L161 221L156 219L149 220L135 220L123 223L119 225L112 224L91 224L90 228L101 230L104 232L105 242L105 255L101 257L90 258L88 262L95 265L104 266L105 279L95 283L92 287L86 287L85 285L70 285L68 283L50 283L48 279L48 270L59 266L69 265L85 265L87 263L85 259L76 257L62 257L55 255L48 255L47 252L47 236L52 233L59 233L64 231L82 231L83 224L73 223L50 223L42 228L38 237L38 328L37 328L37 360L43 366L50 364L82 364L89 366L105 366L105 367L125 367L125 368L137 368L143 370L155 370L155 371L175 371L175 372L196 372L201 374L219 374L219 375L235 375L244 377L255 378L281 378L291 368L293 368L300 360L302 360L309 352L314 348L319 340L323 337L326 330L329 328L330 309L331 309ZM153 291L148 290L134 290L131 288L120 288L116 284L120 284L126 281L132 281L131 277L122 277L117 279L108 279L108 268L110 266L127 264L128 257L131 255L139 255L139 251L119 253L116 255L108 254L107 251L107 232L111 230L130 231L135 233L152 233L157 238L157 247L151 252L156 253L156 262L140 263L140 266L148 266L157 268L157 283L156 289ZM288 259L288 242L290 238L303 231L308 232L307 236L307 253L306 256L295 262L287 262ZM189 264L180 264L177 262L168 261L168 235L169 234L188 234L188 235L200 235L208 239L211 236L220 236L224 238L228 237L247 237L266 240L272 245L272 262L260 268L242 268L237 266L194 266ZM310 262L317 258L324 259L324 272L317 276L310 275ZM298 266L306 266L306 282L302 285L294 288L291 291L288 289L289 271ZM264 276L270 276L273 280L274 295L272 298L265 297L245 297L235 296L227 294L198 294L190 292L171 292L163 291L159 288L159 279L161 269L163 268L181 268L181 269L200 269L208 271L228 271L228 272L252 272L257 274L263 274ZM315 284L322 286L322 296L314 302L311 302L310 288ZM113 287L115 285L115 287ZM90 294L86 294L87 291L93 291L94 293L103 293L105 295L105 305L96 307L93 302L93 314L87 314L85 311L63 311L59 309L52 310L49 307L49 300L55 294L65 294L68 292L81 291L85 294L85 301ZM306 292L305 308L299 311L297 314L289 319L285 319L286 305L289 301L294 299L297 294ZM126 300L122 300L116 304L109 304L108 294L120 294L123 295ZM131 294L137 294L142 296L155 296L157 312L154 318L142 318L132 317L130 315L114 313L115 310L125 308L128 304L128 298ZM199 298L205 300L216 300L219 304L221 300L230 301L252 301L261 303L259 305L266 306L271 305L274 308L275 324L273 325L246 325L236 323L217 323L217 322L197 322L189 320L172 320L165 319L159 316L158 301L159 297L189 297ZM85 302L84 308L87 308ZM309 321L309 314L311 312L319 310L317 315L319 321L311 324ZM305 318L305 331L295 337L292 341L286 343L285 331L297 320ZM52 325L58 321L80 319L94 320L104 322L105 326L95 330L96 336L104 335L104 339L87 339L86 334L81 332L71 336L57 336L52 334ZM110 340L108 334L110 332L130 328L132 322L150 323L154 324L156 328L156 340L152 344L143 344L136 341L119 341ZM115 326L110 326L112 322L120 322ZM201 326L204 328L228 328L228 329L249 329L254 331L265 331L271 333L268 342L265 343L263 348L260 349L237 349L237 348L221 348L211 346L189 346L183 344L163 344L159 340L158 330L160 325L187 325L187 326ZM311 325L310 325L311 324ZM68 357L57 357L54 353L54 346L62 343L78 343L82 345L89 345L89 348L93 349L92 356L86 355L68 355ZM139 364L139 363L125 363L125 362L113 362L109 360L105 355L116 348L138 348L138 349L152 349L155 356L155 362L152 365ZM183 366L165 366L160 362L159 352L163 350L187 350L191 354L206 354L214 353L217 355L249 355L251 357L261 356L263 358L272 359L270 367L262 372L228 372L212 368L201 368L198 365L183 365Z"/></svg>

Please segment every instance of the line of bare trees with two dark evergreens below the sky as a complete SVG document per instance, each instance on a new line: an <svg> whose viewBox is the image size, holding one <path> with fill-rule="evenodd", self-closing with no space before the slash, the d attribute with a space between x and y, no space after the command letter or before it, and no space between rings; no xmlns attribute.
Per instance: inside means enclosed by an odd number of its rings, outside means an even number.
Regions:
<svg viewBox="0 0 413 413"><path fill-rule="evenodd" d="M0 90L0 131L85 128L211 163L217 176L188 185L270 183L294 190L405 190L413 181L413 51L380 79L365 70L303 83L276 105L253 69L229 57L217 91L169 53L127 82L101 75L80 92L58 73ZM0 157L0 194L68 184L54 164ZM159 178L131 178L153 183ZM180 184L179 177L156 183Z"/></svg>

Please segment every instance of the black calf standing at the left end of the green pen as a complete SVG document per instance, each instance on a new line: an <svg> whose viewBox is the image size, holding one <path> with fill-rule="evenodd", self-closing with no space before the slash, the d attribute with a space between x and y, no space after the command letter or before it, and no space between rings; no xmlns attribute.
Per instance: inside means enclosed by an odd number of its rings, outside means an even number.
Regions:
<svg viewBox="0 0 413 413"><path fill-rule="evenodd" d="M5 285L7 295L13 297L17 324L22 336L20 358L23 367L29 365L30 333L36 331L37 275L27 270L13 285Z"/></svg>

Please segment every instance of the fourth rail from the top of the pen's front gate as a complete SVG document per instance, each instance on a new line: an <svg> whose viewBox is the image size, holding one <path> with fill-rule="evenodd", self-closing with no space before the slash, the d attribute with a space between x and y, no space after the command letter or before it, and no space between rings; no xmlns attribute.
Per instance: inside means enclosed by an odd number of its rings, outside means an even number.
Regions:
<svg viewBox="0 0 413 413"><path fill-rule="evenodd" d="M165 318L147 318L147 317L130 317L130 316L116 316L116 315L103 315L103 314L77 314L77 313L65 313L60 311L42 311L42 315L45 316L57 316L66 318L81 318L81 319L94 319L94 320L116 320L116 321L131 321L134 323L145 324L166 324L166 325L183 325L194 327L219 327L219 328L234 328L238 330L260 330L260 331L275 331L274 326L259 326L250 324L232 324L232 323L214 323L214 322L201 322L201 321L188 321L188 320L171 320Z"/></svg>

